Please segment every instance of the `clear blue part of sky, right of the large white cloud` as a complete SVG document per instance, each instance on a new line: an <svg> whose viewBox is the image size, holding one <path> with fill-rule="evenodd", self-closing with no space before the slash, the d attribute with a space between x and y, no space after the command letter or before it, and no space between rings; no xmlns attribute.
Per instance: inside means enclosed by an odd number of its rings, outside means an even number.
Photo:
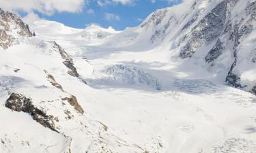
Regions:
<svg viewBox="0 0 256 153"><path fill-rule="evenodd" d="M137 26L154 10L169 7L175 3L178 1L137 0L132 3L99 5L98 1L93 0L86 3L79 12L56 11L51 15L39 11L35 11L35 13L40 18L55 20L74 28L85 28L88 24L94 23L105 28L111 26L116 30L123 30L126 27Z"/></svg>

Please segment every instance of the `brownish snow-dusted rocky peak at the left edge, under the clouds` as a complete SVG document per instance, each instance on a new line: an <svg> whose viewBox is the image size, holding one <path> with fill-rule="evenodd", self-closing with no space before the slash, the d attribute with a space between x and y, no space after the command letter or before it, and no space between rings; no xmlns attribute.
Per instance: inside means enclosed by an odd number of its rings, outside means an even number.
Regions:
<svg viewBox="0 0 256 153"><path fill-rule="evenodd" d="M16 14L0 9L0 46L6 50L14 44L19 44L17 36L31 37L33 33Z"/></svg>

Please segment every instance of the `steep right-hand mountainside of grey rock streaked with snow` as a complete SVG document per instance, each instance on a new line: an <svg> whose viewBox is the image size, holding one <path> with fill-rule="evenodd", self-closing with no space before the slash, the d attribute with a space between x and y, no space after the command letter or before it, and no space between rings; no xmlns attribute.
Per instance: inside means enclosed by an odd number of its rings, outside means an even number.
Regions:
<svg viewBox="0 0 256 153"><path fill-rule="evenodd" d="M140 28L141 33L153 31L149 42L171 44L170 52L178 52L184 63L199 60L199 69L251 91L256 84L256 78L248 77L256 75L255 14L251 0L196 0L157 10Z"/></svg>

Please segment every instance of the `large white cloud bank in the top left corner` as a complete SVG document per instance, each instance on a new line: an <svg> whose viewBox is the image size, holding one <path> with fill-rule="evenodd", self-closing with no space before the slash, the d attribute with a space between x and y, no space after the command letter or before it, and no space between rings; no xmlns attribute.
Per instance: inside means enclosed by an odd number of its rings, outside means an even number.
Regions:
<svg viewBox="0 0 256 153"><path fill-rule="evenodd" d="M3 10L12 12L40 12L52 15L54 12L80 12L87 0L0 0Z"/></svg>

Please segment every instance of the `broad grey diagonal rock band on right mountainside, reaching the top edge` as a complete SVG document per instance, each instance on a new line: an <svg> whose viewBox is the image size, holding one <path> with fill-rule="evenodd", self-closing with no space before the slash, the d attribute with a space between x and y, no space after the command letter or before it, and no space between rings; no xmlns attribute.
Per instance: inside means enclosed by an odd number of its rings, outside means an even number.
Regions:
<svg viewBox="0 0 256 153"><path fill-rule="evenodd" d="M237 2L238 0L225 0L214 7L214 9L193 28L191 33L186 35L187 43L181 48L180 57L188 58L193 56L196 50L203 44L210 43L210 41L219 37L221 33L223 33L222 29L225 29L226 19L229 17L231 8Z"/></svg>

